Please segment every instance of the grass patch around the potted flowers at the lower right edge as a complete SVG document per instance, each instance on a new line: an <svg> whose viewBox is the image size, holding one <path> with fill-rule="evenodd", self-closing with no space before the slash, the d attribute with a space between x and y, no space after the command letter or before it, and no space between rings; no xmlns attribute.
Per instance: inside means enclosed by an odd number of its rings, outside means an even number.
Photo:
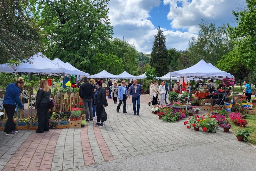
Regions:
<svg viewBox="0 0 256 171"><path fill-rule="evenodd" d="M245 128L249 128L252 130L252 134L248 137L248 141L252 144L256 144L256 115L250 115L250 117L246 118L245 120L249 123L249 125L246 125ZM236 131L236 129L245 129L240 128L240 126L236 126L233 122L230 122L230 125L232 125L231 130L234 132Z"/></svg>

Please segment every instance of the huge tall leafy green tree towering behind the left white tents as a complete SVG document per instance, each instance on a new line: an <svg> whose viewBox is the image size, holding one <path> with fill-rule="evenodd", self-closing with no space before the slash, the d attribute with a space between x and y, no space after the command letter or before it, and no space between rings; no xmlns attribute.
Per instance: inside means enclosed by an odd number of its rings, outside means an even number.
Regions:
<svg viewBox="0 0 256 171"><path fill-rule="evenodd" d="M91 58L112 38L109 0L40 0L45 54L89 72Z"/></svg>

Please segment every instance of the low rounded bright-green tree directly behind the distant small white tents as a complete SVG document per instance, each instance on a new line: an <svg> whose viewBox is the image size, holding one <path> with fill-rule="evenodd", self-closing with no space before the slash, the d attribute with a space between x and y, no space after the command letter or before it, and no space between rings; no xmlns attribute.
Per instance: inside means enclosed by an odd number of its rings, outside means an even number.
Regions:
<svg viewBox="0 0 256 171"><path fill-rule="evenodd" d="M92 62L94 74L101 72L103 69L114 75L118 75L124 71L122 59L113 54L106 56L105 54L97 53L96 56L92 58L92 61L94 61Z"/></svg>

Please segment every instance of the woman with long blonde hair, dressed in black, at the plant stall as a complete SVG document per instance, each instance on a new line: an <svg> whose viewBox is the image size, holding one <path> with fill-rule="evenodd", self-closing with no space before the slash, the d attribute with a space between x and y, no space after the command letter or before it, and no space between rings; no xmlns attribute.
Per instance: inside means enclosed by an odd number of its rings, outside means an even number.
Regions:
<svg viewBox="0 0 256 171"><path fill-rule="evenodd" d="M51 89L48 87L45 79L40 80L39 90L37 92L37 100L35 108L37 109L38 128L37 133L49 131L49 105L50 105Z"/></svg>

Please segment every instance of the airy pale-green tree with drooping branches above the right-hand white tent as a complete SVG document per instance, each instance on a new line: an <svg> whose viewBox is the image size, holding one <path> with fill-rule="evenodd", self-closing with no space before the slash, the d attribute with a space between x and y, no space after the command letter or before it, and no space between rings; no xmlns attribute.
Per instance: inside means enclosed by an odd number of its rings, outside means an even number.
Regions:
<svg viewBox="0 0 256 171"><path fill-rule="evenodd" d="M213 23L199 24L199 33L197 39L192 37L189 41L189 53L192 64L201 59L205 62L216 65L221 56L227 54L233 49L232 41L226 31L226 26L215 27Z"/></svg>

